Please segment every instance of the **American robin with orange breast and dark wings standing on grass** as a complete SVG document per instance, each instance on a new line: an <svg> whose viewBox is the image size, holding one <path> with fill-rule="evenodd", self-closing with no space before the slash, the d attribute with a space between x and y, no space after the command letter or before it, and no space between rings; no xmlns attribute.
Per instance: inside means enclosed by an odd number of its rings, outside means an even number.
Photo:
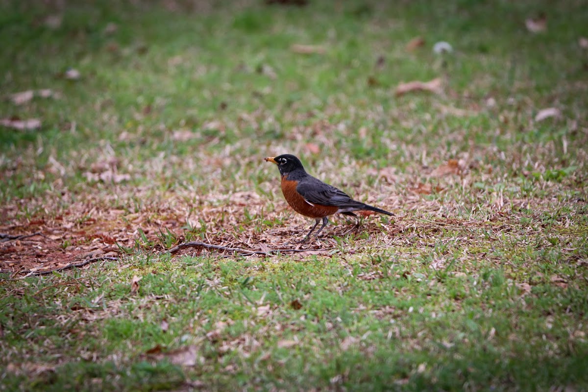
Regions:
<svg viewBox="0 0 588 392"><path fill-rule="evenodd" d="M342 190L309 175L304 170L300 159L293 155L284 154L275 158L268 157L265 160L278 165L280 175L282 175L282 193L290 207L296 212L316 220L315 225L312 226L303 241L308 239L322 219L323 225L316 232L318 237L320 230L329 222L327 219L329 215L340 213L358 217L353 211L360 210L394 215L391 212L353 200Z"/></svg>

